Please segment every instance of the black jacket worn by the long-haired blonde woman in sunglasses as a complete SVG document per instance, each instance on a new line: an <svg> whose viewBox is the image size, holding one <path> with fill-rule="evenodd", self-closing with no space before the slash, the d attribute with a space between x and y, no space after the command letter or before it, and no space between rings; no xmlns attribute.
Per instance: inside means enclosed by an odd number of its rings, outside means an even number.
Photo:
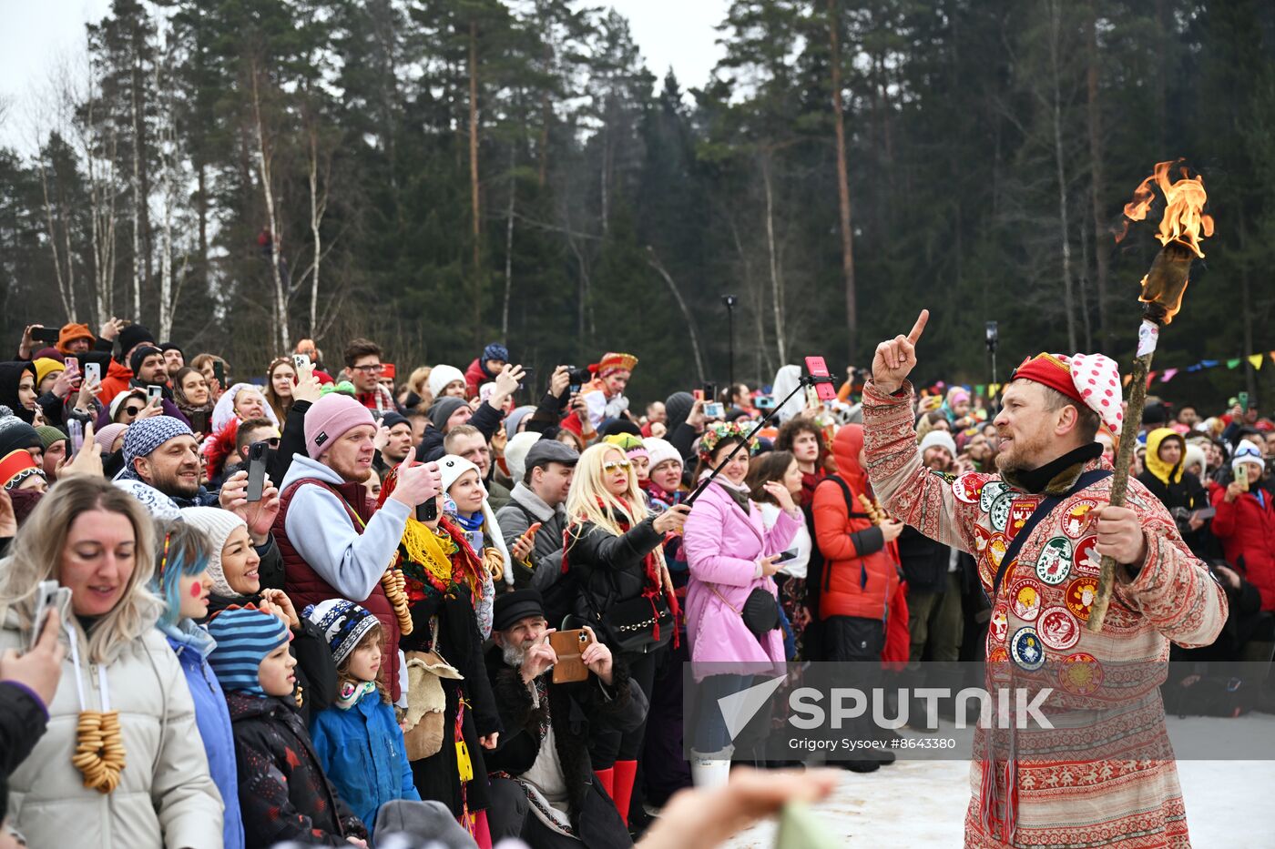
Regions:
<svg viewBox="0 0 1275 849"><path fill-rule="evenodd" d="M617 518L618 519L618 518ZM592 521L567 529L567 567L579 580L575 614L593 622L593 613L606 614L613 604L641 595L646 586L643 560L662 542L655 516L646 516L616 535Z"/></svg>

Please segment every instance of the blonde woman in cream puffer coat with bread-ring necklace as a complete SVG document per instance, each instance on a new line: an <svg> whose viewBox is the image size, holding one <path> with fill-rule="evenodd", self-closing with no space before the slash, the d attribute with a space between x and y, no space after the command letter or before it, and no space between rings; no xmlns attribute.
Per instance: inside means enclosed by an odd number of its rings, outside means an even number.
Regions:
<svg viewBox="0 0 1275 849"><path fill-rule="evenodd" d="M147 590L153 534L131 495L74 477L36 507L0 570L0 651L26 649L40 581L70 590L48 730L9 776L10 822L33 846L222 845L194 702Z"/></svg>

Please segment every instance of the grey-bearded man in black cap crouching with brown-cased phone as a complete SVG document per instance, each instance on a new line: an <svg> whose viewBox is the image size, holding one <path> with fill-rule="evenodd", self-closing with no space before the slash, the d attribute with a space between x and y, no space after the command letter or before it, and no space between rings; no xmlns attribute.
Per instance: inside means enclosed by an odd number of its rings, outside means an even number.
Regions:
<svg viewBox="0 0 1275 849"><path fill-rule="evenodd" d="M555 683L553 628L533 589L496 599L487 674L500 708L496 748L483 752L491 779L492 843L519 838L532 849L631 846L615 802L589 765L589 733L636 728L646 699L585 627L584 681Z"/></svg>

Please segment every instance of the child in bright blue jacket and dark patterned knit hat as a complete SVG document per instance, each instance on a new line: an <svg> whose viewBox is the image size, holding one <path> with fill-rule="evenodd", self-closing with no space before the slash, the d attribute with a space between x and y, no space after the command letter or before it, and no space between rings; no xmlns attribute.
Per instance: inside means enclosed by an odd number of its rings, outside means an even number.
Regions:
<svg viewBox="0 0 1275 849"><path fill-rule="evenodd" d="M393 799L421 801L412 780L403 730L381 682L385 635L375 616L343 598L306 608L337 663L337 701L311 719L315 753L332 783L368 832Z"/></svg>

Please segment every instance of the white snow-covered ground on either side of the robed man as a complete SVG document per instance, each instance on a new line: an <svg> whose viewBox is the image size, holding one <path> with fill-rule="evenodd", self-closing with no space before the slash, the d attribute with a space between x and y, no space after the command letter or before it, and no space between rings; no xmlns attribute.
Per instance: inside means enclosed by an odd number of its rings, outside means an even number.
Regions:
<svg viewBox="0 0 1275 849"><path fill-rule="evenodd" d="M1275 736L1275 716L1267 714L1227 722L1238 737ZM1275 761L1181 760L1178 776L1195 849L1275 848ZM815 809L843 846L960 846L968 804L968 761L899 760L870 775L844 771L836 792ZM762 822L727 845L769 849L774 838L774 824Z"/></svg>

